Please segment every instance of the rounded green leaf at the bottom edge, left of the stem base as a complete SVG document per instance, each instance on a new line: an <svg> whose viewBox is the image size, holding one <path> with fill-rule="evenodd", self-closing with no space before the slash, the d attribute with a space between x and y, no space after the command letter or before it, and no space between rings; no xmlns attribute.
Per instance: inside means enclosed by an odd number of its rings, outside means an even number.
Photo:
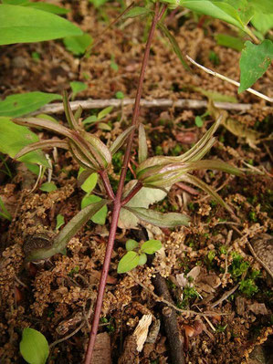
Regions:
<svg viewBox="0 0 273 364"><path fill-rule="evenodd" d="M34 328L24 328L20 353L29 364L45 364L49 355L47 338Z"/></svg>

